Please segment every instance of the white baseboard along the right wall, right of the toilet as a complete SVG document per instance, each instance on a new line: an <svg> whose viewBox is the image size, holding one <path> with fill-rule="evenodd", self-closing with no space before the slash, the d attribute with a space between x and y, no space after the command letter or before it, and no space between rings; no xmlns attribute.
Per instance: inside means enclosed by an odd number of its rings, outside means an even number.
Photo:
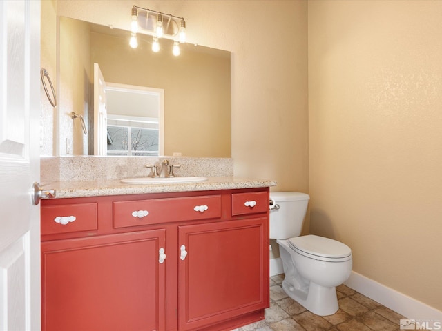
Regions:
<svg viewBox="0 0 442 331"><path fill-rule="evenodd" d="M388 288L377 281L352 271L349 279L344 283L349 288L385 305L407 319L425 319L442 321L442 312L430 307L421 301Z"/></svg>

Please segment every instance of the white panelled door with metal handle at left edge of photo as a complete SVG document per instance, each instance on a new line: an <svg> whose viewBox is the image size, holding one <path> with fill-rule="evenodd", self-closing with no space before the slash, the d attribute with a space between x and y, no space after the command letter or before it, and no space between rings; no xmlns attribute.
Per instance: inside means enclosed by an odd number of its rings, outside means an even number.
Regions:
<svg viewBox="0 0 442 331"><path fill-rule="evenodd" d="M40 1L0 1L0 330L40 330Z"/></svg>

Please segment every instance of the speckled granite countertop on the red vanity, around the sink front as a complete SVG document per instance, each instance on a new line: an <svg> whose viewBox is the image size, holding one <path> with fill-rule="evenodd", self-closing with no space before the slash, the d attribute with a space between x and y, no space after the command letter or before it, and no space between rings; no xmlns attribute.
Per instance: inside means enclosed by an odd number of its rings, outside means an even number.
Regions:
<svg viewBox="0 0 442 331"><path fill-rule="evenodd" d="M231 190L237 188L265 188L277 183L267 179L240 177L208 177L206 181L194 183L125 184L113 181L60 181L44 183L46 190L57 190L57 199L98 197L106 195L147 194L164 192L191 192L210 190Z"/></svg>

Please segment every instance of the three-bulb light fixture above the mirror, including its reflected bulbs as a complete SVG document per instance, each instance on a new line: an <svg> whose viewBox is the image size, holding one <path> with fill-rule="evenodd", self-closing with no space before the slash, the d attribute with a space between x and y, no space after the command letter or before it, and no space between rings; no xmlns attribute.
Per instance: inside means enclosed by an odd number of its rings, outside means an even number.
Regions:
<svg viewBox="0 0 442 331"><path fill-rule="evenodd" d="M186 42L186 21L184 17L177 17L172 14L164 14L148 8L133 6L131 10L131 47L136 48L137 32L146 32L153 36L152 50L160 51L159 38L173 39L173 54L180 54L180 43ZM135 46L136 45L136 46Z"/></svg>

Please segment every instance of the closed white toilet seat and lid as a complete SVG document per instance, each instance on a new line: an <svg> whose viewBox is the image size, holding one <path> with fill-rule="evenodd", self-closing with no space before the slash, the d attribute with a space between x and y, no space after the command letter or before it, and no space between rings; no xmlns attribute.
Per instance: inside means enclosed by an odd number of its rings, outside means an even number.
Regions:
<svg viewBox="0 0 442 331"><path fill-rule="evenodd" d="M352 259L352 250L345 243L314 234L290 238L289 246L295 252L310 259L329 262Z"/></svg>

